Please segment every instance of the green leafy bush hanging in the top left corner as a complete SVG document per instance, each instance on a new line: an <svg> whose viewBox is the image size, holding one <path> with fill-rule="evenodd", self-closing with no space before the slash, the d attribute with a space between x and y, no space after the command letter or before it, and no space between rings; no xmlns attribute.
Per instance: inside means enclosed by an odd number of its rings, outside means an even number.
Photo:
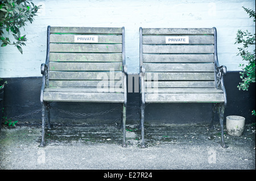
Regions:
<svg viewBox="0 0 256 181"><path fill-rule="evenodd" d="M6 45L14 45L22 53L22 45L26 45L26 35L20 35L20 28L24 28L26 22L32 23L34 16L38 12L40 6L35 6L32 1L24 0L1 0L0 1L0 40L1 47ZM14 39L11 43L9 37L4 37L4 31L13 33Z"/></svg>

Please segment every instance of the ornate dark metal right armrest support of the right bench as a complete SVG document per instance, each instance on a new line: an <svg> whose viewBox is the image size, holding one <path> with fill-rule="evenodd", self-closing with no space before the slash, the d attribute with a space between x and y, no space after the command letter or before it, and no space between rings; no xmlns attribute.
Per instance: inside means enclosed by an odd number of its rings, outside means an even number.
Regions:
<svg viewBox="0 0 256 181"><path fill-rule="evenodd" d="M226 66L216 66L216 88L224 92L224 105L226 106L226 89L224 86L224 75L226 75Z"/></svg>

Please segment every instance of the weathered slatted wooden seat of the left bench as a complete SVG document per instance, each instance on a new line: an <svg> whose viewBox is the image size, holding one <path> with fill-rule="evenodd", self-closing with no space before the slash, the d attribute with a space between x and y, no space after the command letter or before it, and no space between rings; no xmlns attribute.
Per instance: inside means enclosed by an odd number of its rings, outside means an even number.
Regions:
<svg viewBox="0 0 256 181"><path fill-rule="evenodd" d="M48 88L44 89L44 101L56 102L115 102L125 101L123 89L97 88Z"/></svg>

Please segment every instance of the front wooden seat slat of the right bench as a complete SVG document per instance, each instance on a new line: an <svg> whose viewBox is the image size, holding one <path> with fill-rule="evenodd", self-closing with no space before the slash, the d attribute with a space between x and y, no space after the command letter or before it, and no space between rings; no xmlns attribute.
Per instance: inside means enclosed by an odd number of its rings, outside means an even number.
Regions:
<svg viewBox="0 0 256 181"><path fill-rule="evenodd" d="M145 102L151 103L220 103L224 94L146 94Z"/></svg>

